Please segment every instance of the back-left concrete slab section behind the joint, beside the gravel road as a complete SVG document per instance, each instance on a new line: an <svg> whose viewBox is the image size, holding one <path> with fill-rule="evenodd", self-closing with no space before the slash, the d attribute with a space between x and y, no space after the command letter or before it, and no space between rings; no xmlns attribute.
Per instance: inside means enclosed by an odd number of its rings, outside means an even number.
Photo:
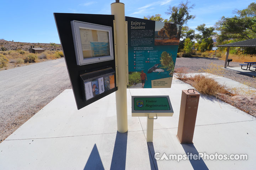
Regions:
<svg viewBox="0 0 256 170"><path fill-rule="evenodd" d="M129 93L127 97L130 98ZM128 116L128 119L129 131L141 130L137 117ZM18 128L7 140L114 133L117 131L116 125L115 93L77 110L73 91L67 89L24 123L22 129Z"/></svg>

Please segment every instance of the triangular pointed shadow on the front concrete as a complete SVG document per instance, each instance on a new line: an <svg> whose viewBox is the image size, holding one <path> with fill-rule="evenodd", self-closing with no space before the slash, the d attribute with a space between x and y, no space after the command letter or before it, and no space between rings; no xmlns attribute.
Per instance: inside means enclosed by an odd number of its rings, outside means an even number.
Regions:
<svg viewBox="0 0 256 170"><path fill-rule="evenodd" d="M96 143L92 148L91 154L87 160L84 170L104 170L103 164L101 162L100 154L98 153L98 149Z"/></svg>

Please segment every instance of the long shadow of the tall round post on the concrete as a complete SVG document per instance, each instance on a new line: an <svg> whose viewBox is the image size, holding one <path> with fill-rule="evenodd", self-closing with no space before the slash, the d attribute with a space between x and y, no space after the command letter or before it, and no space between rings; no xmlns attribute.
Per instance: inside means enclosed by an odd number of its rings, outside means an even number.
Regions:
<svg viewBox="0 0 256 170"><path fill-rule="evenodd" d="M125 170L127 134L117 132L110 170Z"/></svg>

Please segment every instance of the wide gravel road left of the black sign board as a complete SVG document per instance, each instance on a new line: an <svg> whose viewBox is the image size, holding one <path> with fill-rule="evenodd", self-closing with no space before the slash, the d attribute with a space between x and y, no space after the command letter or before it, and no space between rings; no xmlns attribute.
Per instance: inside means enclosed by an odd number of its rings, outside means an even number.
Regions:
<svg viewBox="0 0 256 170"><path fill-rule="evenodd" d="M70 88L64 58L0 71L0 142Z"/></svg>

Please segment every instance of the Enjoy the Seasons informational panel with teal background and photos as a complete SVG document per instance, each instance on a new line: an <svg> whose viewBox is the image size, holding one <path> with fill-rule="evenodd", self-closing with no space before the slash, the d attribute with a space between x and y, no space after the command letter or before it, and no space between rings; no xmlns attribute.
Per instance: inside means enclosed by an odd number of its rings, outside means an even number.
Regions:
<svg viewBox="0 0 256 170"><path fill-rule="evenodd" d="M171 87L181 25L126 17L128 88Z"/></svg>

